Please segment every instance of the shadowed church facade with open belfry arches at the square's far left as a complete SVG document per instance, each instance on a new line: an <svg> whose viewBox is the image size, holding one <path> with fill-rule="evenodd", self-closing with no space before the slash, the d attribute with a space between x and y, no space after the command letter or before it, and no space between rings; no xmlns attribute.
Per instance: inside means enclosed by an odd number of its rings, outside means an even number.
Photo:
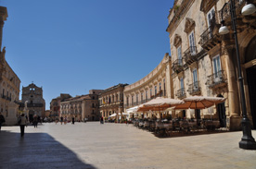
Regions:
<svg viewBox="0 0 256 169"><path fill-rule="evenodd" d="M43 88L37 87L35 84L30 84L27 87L22 87L21 103L19 103L20 111L24 110L25 102L27 102L29 110L29 120L33 119L33 115L42 117L45 115L45 99L43 98Z"/></svg>

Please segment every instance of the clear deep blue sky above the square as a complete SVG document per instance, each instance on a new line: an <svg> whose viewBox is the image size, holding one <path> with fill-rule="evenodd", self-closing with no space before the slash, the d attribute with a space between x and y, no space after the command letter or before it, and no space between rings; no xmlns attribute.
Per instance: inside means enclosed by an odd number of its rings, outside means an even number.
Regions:
<svg viewBox="0 0 256 169"><path fill-rule="evenodd" d="M46 109L60 93L132 84L170 54L173 0L0 0L8 18L6 61L43 87ZM21 99L21 98L19 98Z"/></svg>

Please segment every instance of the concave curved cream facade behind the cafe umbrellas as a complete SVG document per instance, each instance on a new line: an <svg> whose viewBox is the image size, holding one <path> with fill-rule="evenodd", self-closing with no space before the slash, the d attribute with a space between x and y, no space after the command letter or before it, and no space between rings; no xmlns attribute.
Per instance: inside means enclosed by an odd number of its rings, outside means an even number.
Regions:
<svg viewBox="0 0 256 169"><path fill-rule="evenodd" d="M156 97L173 98L172 72L171 56L166 53L160 64L146 77L124 87L124 112Z"/></svg>

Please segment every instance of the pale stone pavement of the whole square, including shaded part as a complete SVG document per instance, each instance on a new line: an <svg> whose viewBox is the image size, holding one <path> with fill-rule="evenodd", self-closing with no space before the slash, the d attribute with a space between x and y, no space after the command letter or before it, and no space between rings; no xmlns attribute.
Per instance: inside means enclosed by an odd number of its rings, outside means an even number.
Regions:
<svg viewBox="0 0 256 169"><path fill-rule="evenodd" d="M252 131L254 139L256 131ZM256 151L238 148L242 132L160 139L125 124L99 122L2 127L0 168L256 168Z"/></svg>

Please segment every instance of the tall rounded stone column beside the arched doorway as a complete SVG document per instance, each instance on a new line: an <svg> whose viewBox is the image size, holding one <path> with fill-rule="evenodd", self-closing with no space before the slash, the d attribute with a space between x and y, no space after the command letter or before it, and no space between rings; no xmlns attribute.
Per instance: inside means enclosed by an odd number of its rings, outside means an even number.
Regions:
<svg viewBox="0 0 256 169"><path fill-rule="evenodd" d="M224 56L226 64L226 77L228 86L228 109L229 116L227 115L227 127L230 130L238 130L240 127L240 103L237 87L237 74L236 74L236 58L233 54L234 45L224 46ZM229 120L228 120L229 118Z"/></svg>

